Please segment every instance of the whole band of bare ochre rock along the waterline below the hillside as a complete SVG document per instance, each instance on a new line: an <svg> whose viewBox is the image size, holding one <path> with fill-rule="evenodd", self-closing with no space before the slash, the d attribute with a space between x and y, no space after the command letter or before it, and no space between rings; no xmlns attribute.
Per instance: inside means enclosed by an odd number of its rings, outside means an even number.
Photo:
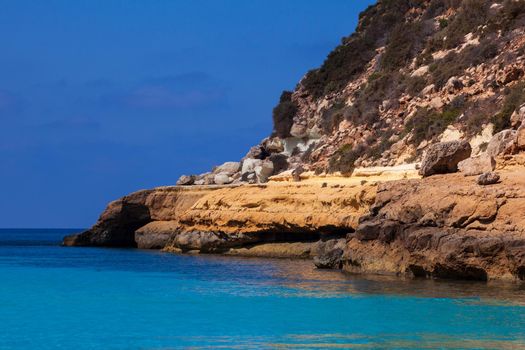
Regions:
<svg viewBox="0 0 525 350"><path fill-rule="evenodd" d="M171 186L108 205L66 246L314 259L320 268L416 278L525 280L525 155L501 180L316 177L297 183ZM387 178L387 181L382 179ZM408 179L405 179L408 178Z"/></svg>

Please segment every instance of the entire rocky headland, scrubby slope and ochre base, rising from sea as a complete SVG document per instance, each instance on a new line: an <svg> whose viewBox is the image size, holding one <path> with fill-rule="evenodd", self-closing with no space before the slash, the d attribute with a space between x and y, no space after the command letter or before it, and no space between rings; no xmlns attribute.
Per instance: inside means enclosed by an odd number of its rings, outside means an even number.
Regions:
<svg viewBox="0 0 525 350"><path fill-rule="evenodd" d="M125 196L64 244L524 280L524 119L524 0L379 0L241 161Z"/></svg>

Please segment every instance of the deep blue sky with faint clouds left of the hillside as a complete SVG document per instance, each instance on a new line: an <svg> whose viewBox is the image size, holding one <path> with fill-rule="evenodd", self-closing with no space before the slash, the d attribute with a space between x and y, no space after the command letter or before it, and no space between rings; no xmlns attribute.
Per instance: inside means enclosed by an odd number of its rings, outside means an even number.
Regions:
<svg viewBox="0 0 525 350"><path fill-rule="evenodd" d="M239 160L371 0L0 0L0 227Z"/></svg>

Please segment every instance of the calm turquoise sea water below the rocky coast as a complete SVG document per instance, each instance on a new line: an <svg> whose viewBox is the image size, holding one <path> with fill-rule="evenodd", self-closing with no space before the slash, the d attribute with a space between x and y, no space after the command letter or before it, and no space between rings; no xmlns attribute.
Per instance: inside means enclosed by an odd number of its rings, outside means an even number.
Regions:
<svg viewBox="0 0 525 350"><path fill-rule="evenodd" d="M525 348L525 288L0 230L0 349Z"/></svg>

